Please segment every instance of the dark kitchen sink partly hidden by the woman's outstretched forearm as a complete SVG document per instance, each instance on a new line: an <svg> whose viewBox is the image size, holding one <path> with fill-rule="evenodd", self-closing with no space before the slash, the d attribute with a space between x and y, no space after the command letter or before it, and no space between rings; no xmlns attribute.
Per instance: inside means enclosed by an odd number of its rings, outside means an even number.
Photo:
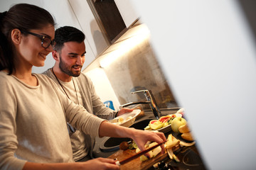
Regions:
<svg viewBox="0 0 256 170"><path fill-rule="evenodd" d="M131 125L129 128L144 130L144 128L146 128L146 126L149 125L150 120L153 120L153 119L150 118L150 119L140 120L139 122ZM132 141L132 139L119 138L119 137L106 137L105 140L103 140L100 143L100 150L102 152L112 152L112 151L118 150L119 144L124 141L129 142L129 141Z"/></svg>

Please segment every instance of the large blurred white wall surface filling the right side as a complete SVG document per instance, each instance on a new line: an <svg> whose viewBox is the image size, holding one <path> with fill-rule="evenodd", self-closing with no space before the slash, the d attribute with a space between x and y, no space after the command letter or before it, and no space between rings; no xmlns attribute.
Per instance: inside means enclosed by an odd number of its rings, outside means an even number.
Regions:
<svg viewBox="0 0 256 170"><path fill-rule="evenodd" d="M208 169L256 167L256 45L237 2L133 1Z"/></svg>

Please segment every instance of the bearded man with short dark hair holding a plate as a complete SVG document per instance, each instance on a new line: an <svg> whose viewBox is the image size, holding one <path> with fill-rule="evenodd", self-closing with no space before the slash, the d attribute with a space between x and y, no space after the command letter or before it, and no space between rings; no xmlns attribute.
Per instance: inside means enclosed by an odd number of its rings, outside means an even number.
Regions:
<svg viewBox="0 0 256 170"><path fill-rule="evenodd" d="M77 28L64 26L55 30L55 46L52 53L55 65L44 74L52 78L70 100L84 106L89 113L100 118L110 120L131 112L132 109L129 108L123 108L118 113L107 108L97 96L92 81L81 73L86 53L84 40L84 33ZM70 125L69 130L74 160L78 162L92 158L95 139Z"/></svg>

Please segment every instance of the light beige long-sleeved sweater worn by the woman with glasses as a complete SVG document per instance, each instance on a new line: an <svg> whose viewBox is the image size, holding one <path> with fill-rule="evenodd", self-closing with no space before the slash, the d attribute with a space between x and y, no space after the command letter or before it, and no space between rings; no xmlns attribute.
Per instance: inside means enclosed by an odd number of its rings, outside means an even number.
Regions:
<svg viewBox="0 0 256 170"><path fill-rule="evenodd" d="M22 169L26 161L73 162L66 122L99 135L102 119L70 101L46 75L33 75L38 86L0 72L0 169Z"/></svg>

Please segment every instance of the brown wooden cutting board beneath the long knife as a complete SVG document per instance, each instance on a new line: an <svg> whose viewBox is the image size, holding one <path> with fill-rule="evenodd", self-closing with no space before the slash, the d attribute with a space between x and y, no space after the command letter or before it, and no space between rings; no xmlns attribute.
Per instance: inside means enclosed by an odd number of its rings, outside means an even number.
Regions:
<svg viewBox="0 0 256 170"><path fill-rule="evenodd" d="M134 154L136 154L135 149L119 150L114 154L110 155L109 158L111 159L117 158L118 161L122 161L123 159L127 159L128 157L131 157ZM166 157L167 157L167 152L165 154L160 153L156 157L146 160L144 162L142 162L138 157L137 159L133 159L131 162L127 162L127 164L121 165L120 169L121 170L149 169L151 166L153 166L157 162L161 162L161 160L163 160Z"/></svg>

